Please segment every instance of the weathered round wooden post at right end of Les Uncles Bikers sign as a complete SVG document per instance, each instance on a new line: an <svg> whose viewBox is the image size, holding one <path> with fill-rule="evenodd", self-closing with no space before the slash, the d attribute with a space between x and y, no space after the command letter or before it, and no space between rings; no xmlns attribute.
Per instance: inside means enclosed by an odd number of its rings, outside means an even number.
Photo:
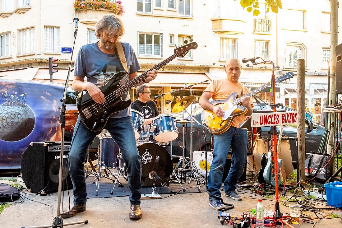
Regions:
<svg viewBox="0 0 342 228"><path fill-rule="evenodd" d="M297 60L297 96L298 96L298 164L297 176L305 181L305 61Z"/></svg>

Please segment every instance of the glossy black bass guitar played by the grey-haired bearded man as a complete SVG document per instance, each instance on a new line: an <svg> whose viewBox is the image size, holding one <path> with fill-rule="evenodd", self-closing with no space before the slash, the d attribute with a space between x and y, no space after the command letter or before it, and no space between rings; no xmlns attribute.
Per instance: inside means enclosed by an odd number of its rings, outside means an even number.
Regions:
<svg viewBox="0 0 342 228"><path fill-rule="evenodd" d="M128 90L145 80L148 77L147 72L152 71L153 69L160 69L176 57L184 57L190 50L196 48L197 43L192 42L174 49L174 54L169 58L163 60L161 63L158 63L124 85L121 85L120 81L126 76L126 72L121 71L116 73L105 85L98 87L106 99L102 104L96 103L87 91L80 92L77 96L76 105L84 125L92 131L102 130L111 114L120 112L130 106L132 100L123 101L121 97L126 94Z"/></svg>

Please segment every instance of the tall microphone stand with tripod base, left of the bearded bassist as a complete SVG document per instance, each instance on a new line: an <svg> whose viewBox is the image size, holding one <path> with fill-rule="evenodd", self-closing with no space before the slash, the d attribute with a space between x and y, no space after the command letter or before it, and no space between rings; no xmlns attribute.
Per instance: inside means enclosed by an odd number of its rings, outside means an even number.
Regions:
<svg viewBox="0 0 342 228"><path fill-rule="evenodd" d="M77 22L79 22L78 18L74 18L74 22L75 22L75 20ZM65 103L66 103L66 92L67 92L67 88L68 88L68 84L69 84L69 76L70 76L70 71L71 71L71 61L73 59L76 35L77 35L77 30L78 30L77 22L75 23L76 26L75 26L75 32L74 32L74 43L73 43L73 49L71 50L68 75L67 75L65 85L64 85L63 99L61 99L62 106L58 107L60 109L59 122L61 124L61 129L62 129L62 138L61 138L60 173L59 173L59 179L58 179L57 215L53 219L53 222L51 225L27 226L27 227L22 227L22 228L47 228L47 227L52 227L52 228L60 227L60 228L62 228L63 226L76 225L76 224L82 224L82 223L87 224L88 223L88 220L83 220L83 221L75 221L72 223L63 224L63 218L61 217L61 193L62 193L62 175L63 175L64 135L65 135L65 110L66 110Z"/></svg>

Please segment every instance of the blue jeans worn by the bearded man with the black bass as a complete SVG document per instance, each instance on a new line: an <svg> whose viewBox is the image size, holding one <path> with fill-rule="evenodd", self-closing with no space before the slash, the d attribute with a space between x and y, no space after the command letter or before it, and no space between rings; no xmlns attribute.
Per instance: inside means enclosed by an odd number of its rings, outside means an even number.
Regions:
<svg viewBox="0 0 342 228"><path fill-rule="evenodd" d="M141 196L141 162L136 148L132 117L109 118L105 126L118 144L122 157L126 161L129 200L131 204L140 204ZM78 117L71 147L68 155L68 166L74 189L74 203L83 205L87 202L86 179L84 177L84 161L87 150L93 139L100 132L89 130Z"/></svg>

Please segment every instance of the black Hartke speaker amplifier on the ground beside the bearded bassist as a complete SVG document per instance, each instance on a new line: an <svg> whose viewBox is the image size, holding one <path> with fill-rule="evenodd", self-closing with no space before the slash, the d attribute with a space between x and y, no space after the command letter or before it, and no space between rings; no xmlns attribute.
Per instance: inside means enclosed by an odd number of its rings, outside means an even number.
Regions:
<svg viewBox="0 0 342 228"><path fill-rule="evenodd" d="M64 143L63 181L64 189L73 188L67 167L70 142ZM22 154L21 176L32 193L58 191L61 142L31 142ZM67 187L68 184L68 187Z"/></svg>

